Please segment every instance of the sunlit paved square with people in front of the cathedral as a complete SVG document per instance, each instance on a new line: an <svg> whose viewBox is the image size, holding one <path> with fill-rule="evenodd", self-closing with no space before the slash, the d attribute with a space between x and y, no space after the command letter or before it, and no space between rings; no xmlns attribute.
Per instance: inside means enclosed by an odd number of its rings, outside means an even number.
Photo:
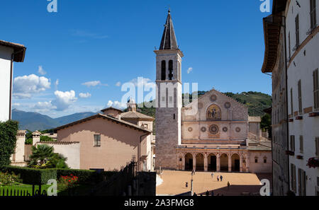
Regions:
<svg viewBox="0 0 319 210"><path fill-rule="evenodd" d="M217 176L223 175L223 181L217 181ZM252 173L213 173L196 172L194 180L194 192L196 194L205 194L208 190L214 191L214 195L242 195L242 192L259 194L262 187L260 180L267 178L272 182L272 176L268 174L256 175ZM156 187L157 195L174 195L189 192L191 190L191 172L164 170L162 173L162 185ZM185 182L189 182L186 187ZM230 188L227 187L230 182ZM272 185L271 185L272 186ZM245 194L245 193L244 193Z"/></svg>

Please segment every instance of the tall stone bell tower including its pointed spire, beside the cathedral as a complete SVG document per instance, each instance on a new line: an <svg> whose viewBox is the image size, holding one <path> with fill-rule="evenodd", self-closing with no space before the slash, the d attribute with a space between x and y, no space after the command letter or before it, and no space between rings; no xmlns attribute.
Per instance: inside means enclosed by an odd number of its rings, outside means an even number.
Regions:
<svg viewBox="0 0 319 210"><path fill-rule="evenodd" d="M181 57L172 16L168 11L156 54L155 168L177 169L176 146L181 144Z"/></svg>

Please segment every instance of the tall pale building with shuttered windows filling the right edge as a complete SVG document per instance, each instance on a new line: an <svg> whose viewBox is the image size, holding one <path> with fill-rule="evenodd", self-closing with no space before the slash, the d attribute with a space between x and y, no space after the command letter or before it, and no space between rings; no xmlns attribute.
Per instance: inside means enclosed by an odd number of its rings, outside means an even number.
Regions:
<svg viewBox="0 0 319 210"><path fill-rule="evenodd" d="M272 16L264 18L262 71L272 72L274 91L275 195L289 189L296 195L319 194L318 4L276 0Z"/></svg>

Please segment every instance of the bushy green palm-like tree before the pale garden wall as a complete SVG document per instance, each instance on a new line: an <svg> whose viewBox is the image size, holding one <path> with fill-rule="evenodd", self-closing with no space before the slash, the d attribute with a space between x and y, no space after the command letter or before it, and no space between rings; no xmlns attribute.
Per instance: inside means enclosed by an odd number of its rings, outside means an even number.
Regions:
<svg viewBox="0 0 319 210"><path fill-rule="evenodd" d="M54 153L53 146L40 144L36 148L32 146L30 155L30 168L67 168L65 161L67 158L58 153Z"/></svg>

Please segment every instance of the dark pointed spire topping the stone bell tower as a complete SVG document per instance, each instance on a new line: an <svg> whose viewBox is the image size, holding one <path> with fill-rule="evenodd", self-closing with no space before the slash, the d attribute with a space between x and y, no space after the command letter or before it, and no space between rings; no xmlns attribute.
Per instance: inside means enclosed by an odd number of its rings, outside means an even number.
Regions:
<svg viewBox="0 0 319 210"><path fill-rule="evenodd" d="M167 20L164 25L164 32L159 49L179 49L170 10L168 11Z"/></svg>

